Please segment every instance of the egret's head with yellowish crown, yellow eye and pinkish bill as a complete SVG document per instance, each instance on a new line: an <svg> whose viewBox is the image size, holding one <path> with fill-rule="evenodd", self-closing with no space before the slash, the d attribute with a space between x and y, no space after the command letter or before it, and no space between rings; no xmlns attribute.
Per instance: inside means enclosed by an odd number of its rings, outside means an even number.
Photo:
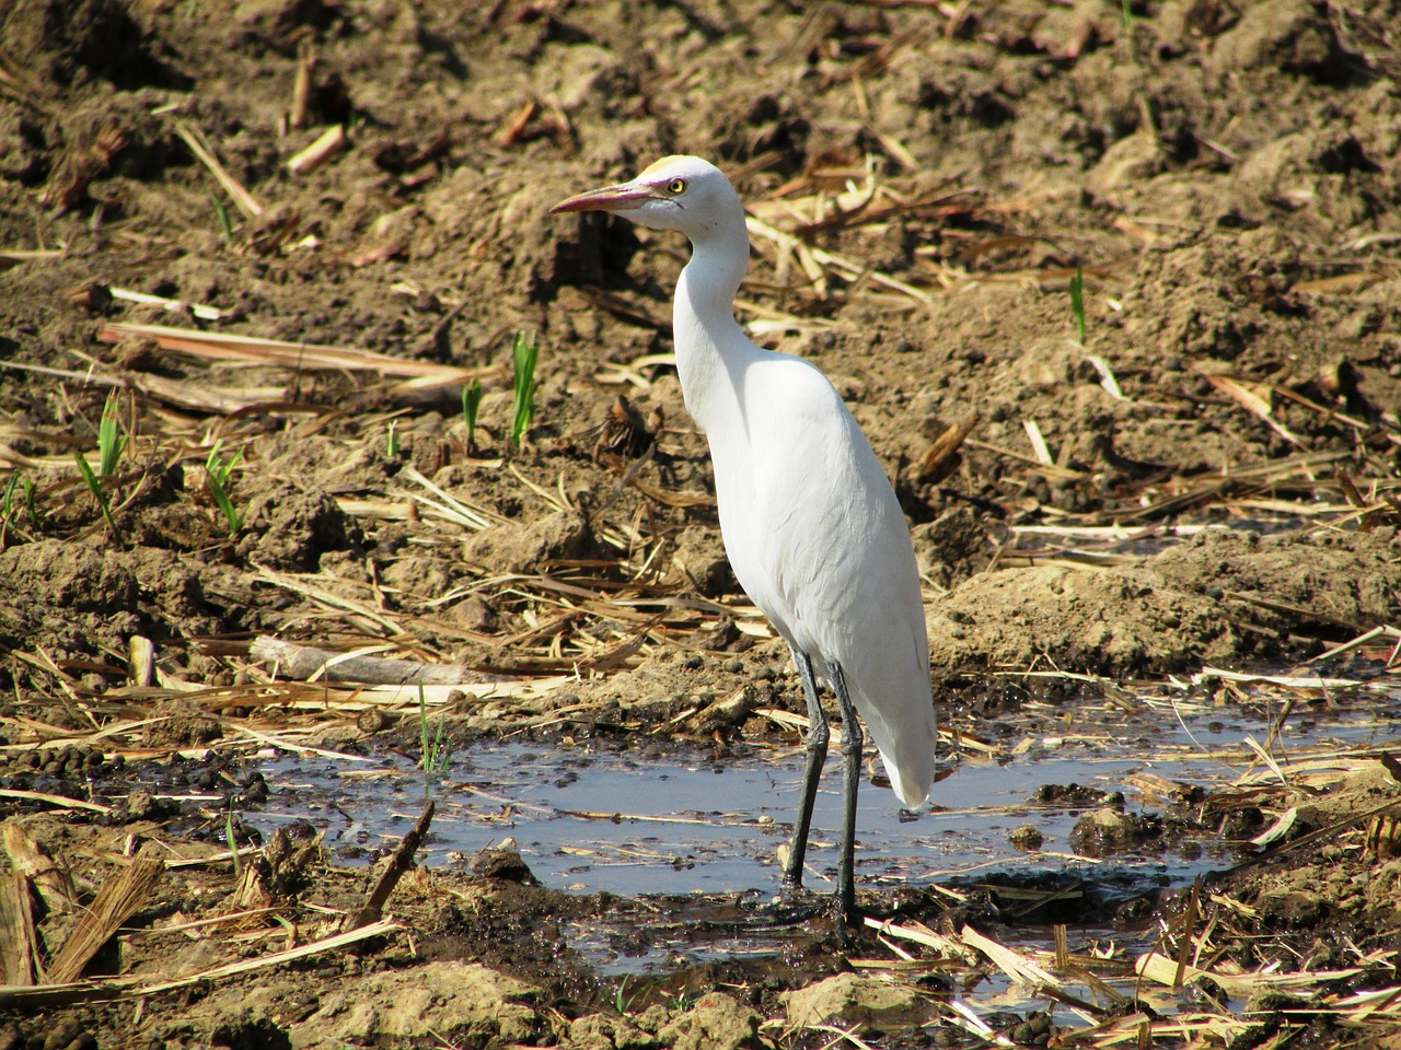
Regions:
<svg viewBox="0 0 1401 1050"><path fill-rule="evenodd" d="M692 241L744 231L744 206L730 179L699 157L664 157L632 182L591 189L551 211L612 211L653 230L679 230Z"/></svg>

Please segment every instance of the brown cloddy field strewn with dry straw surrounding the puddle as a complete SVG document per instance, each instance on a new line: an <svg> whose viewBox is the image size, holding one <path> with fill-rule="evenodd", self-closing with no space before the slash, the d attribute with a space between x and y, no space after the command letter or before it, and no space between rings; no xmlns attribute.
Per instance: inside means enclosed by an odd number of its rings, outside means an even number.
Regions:
<svg viewBox="0 0 1401 1050"><path fill-rule="evenodd" d="M268 638L461 668L425 690L460 748L794 739L668 358L685 245L548 213L670 153L731 174L741 322L827 371L895 479L951 753L1012 749L1028 701L1044 729L1203 666L1386 680L1398 27L1395 0L0 6L0 813L25 875L0 1047L1395 1044L1386 753L1145 797L1276 830L1192 892L1091 916L881 890L874 916L934 931L912 962L817 918L778 965L644 986L560 928L768 920L485 857L410 871L353 934L371 874L244 837L235 875L224 815L277 790L258 748L419 748L416 690L286 680ZM1334 700L1285 689L1281 721ZM188 864L118 888L134 857ZM134 907L74 956L104 886ZM1017 977L979 938L1054 923L1059 977L1132 977L1079 927L1159 924L1185 988L1086 1005L1023 970L1042 998L969 1030L951 995Z"/></svg>

